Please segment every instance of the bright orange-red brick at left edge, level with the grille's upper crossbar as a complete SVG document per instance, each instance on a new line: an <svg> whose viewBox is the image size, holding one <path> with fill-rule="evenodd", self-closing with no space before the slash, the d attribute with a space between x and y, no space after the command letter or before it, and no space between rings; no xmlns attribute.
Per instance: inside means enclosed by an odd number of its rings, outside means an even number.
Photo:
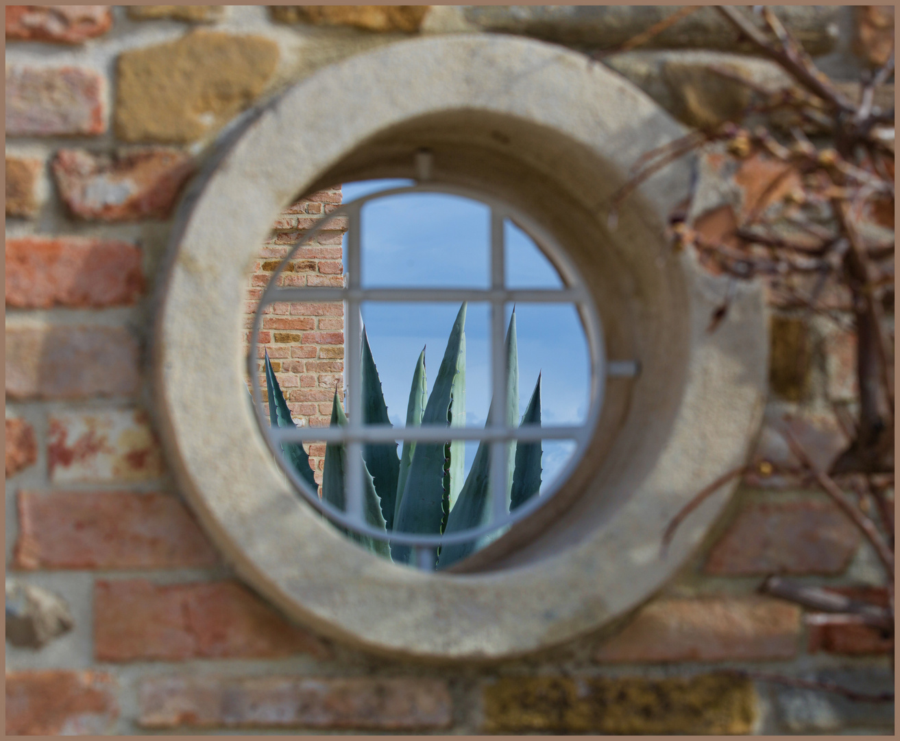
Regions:
<svg viewBox="0 0 900 741"><path fill-rule="evenodd" d="M6 305L115 306L144 291L135 245L85 237L24 237L6 241Z"/></svg>

